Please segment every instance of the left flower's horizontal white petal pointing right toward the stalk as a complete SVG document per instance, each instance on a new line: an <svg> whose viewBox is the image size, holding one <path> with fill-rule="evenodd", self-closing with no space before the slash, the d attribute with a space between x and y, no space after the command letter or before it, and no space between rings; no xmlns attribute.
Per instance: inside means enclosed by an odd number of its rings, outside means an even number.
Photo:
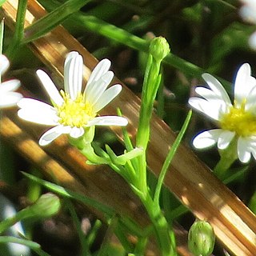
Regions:
<svg viewBox="0 0 256 256"><path fill-rule="evenodd" d="M102 116L90 120L87 126L126 126L128 121L126 118L118 116Z"/></svg>

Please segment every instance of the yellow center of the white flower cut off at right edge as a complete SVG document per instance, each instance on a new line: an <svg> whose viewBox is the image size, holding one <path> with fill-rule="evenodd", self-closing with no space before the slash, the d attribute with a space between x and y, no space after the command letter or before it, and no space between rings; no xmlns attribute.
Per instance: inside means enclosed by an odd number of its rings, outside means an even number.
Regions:
<svg viewBox="0 0 256 256"><path fill-rule="evenodd" d="M238 136L247 137L256 135L256 116L250 111L245 110L246 99L240 107L230 107L228 114L223 114L220 126L223 130L234 131Z"/></svg>

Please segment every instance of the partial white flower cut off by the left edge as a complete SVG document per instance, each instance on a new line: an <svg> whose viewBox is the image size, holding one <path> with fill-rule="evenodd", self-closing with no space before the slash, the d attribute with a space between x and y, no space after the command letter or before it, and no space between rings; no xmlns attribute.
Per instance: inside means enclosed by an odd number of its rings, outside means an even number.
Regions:
<svg viewBox="0 0 256 256"><path fill-rule="evenodd" d="M0 55L0 81L2 74L8 69L10 62L5 55ZM0 83L0 108L14 106L22 98L22 94L14 92L18 89L20 82L17 79L12 79Z"/></svg>

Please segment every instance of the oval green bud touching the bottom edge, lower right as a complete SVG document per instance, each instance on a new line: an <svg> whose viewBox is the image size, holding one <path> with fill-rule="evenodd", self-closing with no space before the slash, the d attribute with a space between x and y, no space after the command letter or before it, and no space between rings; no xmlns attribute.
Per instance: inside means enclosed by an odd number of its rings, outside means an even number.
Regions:
<svg viewBox="0 0 256 256"><path fill-rule="evenodd" d="M190 227L188 246L194 256L208 256L214 250L215 235L210 223L196 221Z"/></svg>

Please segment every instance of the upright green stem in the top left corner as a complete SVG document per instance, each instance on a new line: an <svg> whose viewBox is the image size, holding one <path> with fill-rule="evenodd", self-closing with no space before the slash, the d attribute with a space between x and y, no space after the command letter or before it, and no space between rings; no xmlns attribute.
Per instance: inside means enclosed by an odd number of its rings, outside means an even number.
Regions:
<svg viewBox="0 0 256 256"><path fill-rule="evenodd" d="M6 50L6 55L8 56L8 58L10 58L10 60L14 58L14 56L19 50L19 47L22 44L22 39L24 37L24 24L26 20L25 18L26 6L27 6L27 0L18 1L18 10L17 10L14 38L10 42L9 47Z"/></svg>

